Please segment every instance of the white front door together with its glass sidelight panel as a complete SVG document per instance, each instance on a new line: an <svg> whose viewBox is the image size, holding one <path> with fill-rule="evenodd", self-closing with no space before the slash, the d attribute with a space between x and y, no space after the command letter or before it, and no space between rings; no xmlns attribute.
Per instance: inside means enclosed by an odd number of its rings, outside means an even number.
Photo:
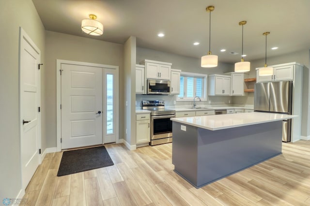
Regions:
<svg viewBox="0 0 310 206"><path fill-rule="evenodd" d="M115 69L62 64L61 145L116 142Z"/></svg>

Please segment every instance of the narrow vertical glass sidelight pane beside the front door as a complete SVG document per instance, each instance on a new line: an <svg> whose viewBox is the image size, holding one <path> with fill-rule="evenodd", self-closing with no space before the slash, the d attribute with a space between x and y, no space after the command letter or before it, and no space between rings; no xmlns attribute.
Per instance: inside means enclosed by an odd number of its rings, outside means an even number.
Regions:
<svg viewBox="0 0 310 206"><path fill-rule="evenodd" d="M107 74L107 134L113 133L113 74Z"/></svg>

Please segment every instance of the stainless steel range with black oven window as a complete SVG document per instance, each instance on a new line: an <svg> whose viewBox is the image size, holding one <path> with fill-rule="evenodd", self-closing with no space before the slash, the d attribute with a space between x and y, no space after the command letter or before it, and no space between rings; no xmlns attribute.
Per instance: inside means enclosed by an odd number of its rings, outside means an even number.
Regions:
<svg viewBox="0 0 310 206"><path fill-rule="evenodd" d="M165 101L142 101L142 109L151 111L151 142L150 145L159 145L172 142L172 121L175 111L165 109Z"/></svg>

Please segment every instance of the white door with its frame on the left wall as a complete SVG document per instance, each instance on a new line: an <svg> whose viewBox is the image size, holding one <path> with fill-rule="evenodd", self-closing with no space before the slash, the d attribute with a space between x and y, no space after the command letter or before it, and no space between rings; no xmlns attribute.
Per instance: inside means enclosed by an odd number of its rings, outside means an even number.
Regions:
<svg viewBox="0 0 310 206"><path fill-rule="evenodd" d="M41 162L40 50L20 28L20 157L22 188L25 189Z"/></svg>

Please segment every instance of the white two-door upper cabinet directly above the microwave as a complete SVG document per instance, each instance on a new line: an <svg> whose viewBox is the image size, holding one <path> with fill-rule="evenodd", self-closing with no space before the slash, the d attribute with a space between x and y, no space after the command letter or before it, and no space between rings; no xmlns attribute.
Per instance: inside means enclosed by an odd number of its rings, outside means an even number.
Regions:
<svg viewBox="0 0 310 206"><path fill-rule="evenodd" d="M145 65L147 79L171 80L171 63L145 59L140 64Z"/></svg>

